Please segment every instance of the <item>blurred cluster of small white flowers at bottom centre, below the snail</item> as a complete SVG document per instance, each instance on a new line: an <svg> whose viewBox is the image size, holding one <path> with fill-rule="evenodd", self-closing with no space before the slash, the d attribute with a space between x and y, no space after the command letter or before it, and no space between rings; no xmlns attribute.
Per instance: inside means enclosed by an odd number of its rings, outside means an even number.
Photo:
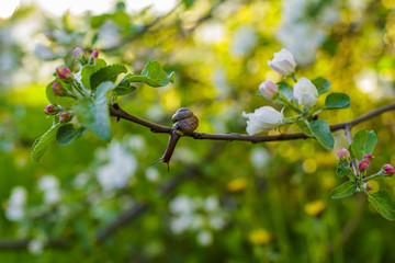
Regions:
<svg viewBox="0 0 395 263"><path fill-rule="evenodd" d="M226 225L226 215L216 196L203 199L179 195L171 201L170 211L173 214L171 230L177 235L198 231L196 242L202 247L212 244L212 231L221 230Z"/></svg>

